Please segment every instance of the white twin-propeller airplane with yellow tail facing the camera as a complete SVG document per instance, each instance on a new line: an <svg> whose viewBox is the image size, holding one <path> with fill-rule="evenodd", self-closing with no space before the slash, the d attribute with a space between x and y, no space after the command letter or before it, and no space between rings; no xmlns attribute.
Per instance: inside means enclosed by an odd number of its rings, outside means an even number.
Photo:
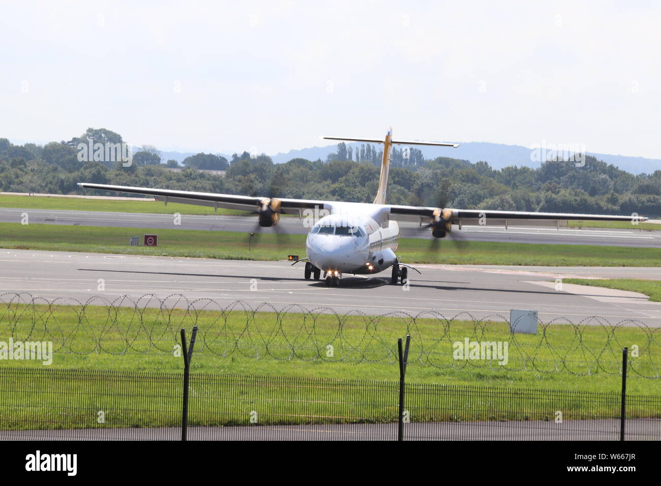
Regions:
<svg viewBox="0 0 661 486"><path fill-rule="evenodd" d="M431 208L420 206L400 206L387 204L388 170L393 145L432 145L438 147L458 147L457 143L416 142L393 140L392 128L385 138L337 138L322 137L324 140L344 142L383 143L383 159L379 186L374 202L338 202L323 200L287 199L275 197L236 196L210 192L156 189L145 187L114 186L79 182L85 189L127 192L155 196L168 202L210 206L218 208L248 210L256 213L260 227L273 227L280 221L280 214L317 215L313 216L311 230L305 241L307 258L304 278L319 280L321 272L329 287L340 285L343 274L377 274L391 268L391 284L405 284L408 281L408 268L419 273L410 264L402 263L396 255L399 225L397 221L414 221L431 229L432 237L444 238L452 231L453 225L459 229L463 225L504 225L515 220L519 224L548 224L563 220L578 221L645 221L638 216L602 216L595 214L564 214L521 211L465 210L455 208ZM306 218L308 218L306 216Z"/></svg>

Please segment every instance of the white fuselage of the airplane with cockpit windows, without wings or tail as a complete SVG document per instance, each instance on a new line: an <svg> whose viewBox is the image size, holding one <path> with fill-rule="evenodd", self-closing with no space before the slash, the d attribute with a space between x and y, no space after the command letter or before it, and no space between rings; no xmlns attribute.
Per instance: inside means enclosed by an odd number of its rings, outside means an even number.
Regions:
<svg viewBox="0 0 661 486"><path fill-rule="evenodd" d="M307 235L307 258L323 272L377 273L397 261L397 222L389 221L387 206L337 203Z"/></svg>

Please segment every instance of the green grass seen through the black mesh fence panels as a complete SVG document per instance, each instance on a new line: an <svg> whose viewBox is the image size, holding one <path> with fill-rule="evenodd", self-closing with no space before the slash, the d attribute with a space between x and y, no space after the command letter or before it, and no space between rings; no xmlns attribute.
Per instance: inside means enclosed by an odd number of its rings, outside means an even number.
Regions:
<svg viewBox="0 0 661 486"><path fill-rule="evenodd" d="M133 428L125 430L122 435L136 437L141 435L136 428L171 427L165 434L171 432L168 435L175 438L178 432L176 427L181 420L181 372L145 374L0 368L0 385L3 391L13 392L0 397L0 410L7 411L0 412L0 431ZM21 393L16 393L17 390ZM399 384L393 380L192 373L189 391L188 424L191 426L254 427L255 424L251 423L254 414L258 415L259 425L394 425L398 415ZM418 423L553 423L557 411L561 411L563 423L576 419L611 419L608 428L615 438L617 423L613 419L619 416L620 396L617 392L434 385L408 380L405 406L410 421ZM98 411L104 413L103 423L97 421ZM628 418L658 419L660 416L661 399L658 395L628 394ZM648 421L646 425L648 432L653 434L655 421ZM591 428L588 424L586 427ZM381 428L381 433L388 433L387 429ZM354 426L344 429L344 432L356 433L359 430ZM396 427L389 428L389 431L394 436ZM158 433L163 436L163 432ZM221 435L232 433L227 429L216 432ZM247 433L245 438L260 434L255 428L241 432Z"/></svg>

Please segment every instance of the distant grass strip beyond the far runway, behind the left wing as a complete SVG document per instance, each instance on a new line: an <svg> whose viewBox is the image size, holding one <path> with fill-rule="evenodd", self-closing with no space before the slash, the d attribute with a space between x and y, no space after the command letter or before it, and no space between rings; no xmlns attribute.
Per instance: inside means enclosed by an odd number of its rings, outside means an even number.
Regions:
<svg viewBox="0 0 661 486"><path fill-rule="evenodd" d="M0 195L0 208L44 209L44 210L75 210L75 211L110 211L122 213L151 213L151 214L234 214L238 216L252 216L247 211L237 211L207 206L194 206L192 204L169 203L167 206L161 201L147 201L136 198L132 201L116 199L88 199L88 198L61 198L50 196L15 196Z"/></svg>

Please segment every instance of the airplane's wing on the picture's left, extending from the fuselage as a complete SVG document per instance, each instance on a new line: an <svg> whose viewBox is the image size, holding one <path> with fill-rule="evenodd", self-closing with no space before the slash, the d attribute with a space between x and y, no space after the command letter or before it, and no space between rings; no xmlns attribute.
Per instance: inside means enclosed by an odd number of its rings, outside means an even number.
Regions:
<svg viewBox="0 0 661 486"><path fill-rule="evenodd" d="M299 214L305 209L329 209L328 201L315 201L307 199L266 198L258 196L233 196L231 194L215 194L214 192L192 192L188 190L154 189L149 187L113 186L110 184L91 184L79 182L83 189L110 190L114 192L127 192L128 194L144 194L154 196L165 202L178 202L182 204L195 204L197 206L210 206L212 208L235 209L241 211L257 212L263 204L272 201L280 202L282 214ZM268 202L264 202L267 200Z"/></svg>

